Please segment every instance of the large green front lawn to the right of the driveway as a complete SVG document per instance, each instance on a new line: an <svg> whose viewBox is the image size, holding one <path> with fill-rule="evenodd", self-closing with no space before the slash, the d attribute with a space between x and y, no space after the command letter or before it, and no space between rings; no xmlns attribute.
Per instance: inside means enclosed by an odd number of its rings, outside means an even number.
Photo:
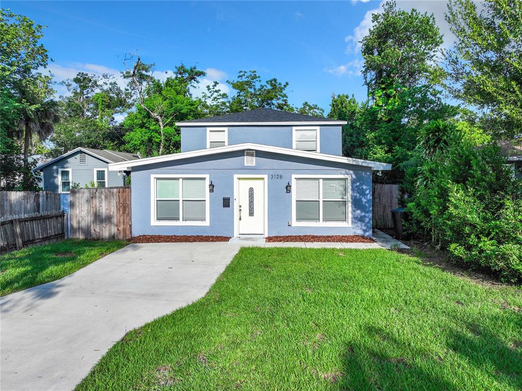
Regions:
<svg viewBox="0 0 522 391"><path fill-rule="evenodd" d="M386 250L243 248L78 390L515 390L522 297ZM139 310L139 309L137 309Z"/></svg>

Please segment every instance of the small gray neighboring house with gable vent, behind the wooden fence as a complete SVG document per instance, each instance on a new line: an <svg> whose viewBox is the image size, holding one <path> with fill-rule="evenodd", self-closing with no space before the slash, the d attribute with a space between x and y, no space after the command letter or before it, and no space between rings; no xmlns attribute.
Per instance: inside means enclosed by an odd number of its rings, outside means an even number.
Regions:
<svg viewBox="0 0 522 391"><path fill-rule="evenodd" d="M33 172L40 171L43 189L55 193L69 193L75 183L80 187L91 182L96 187L124 186L128 173L109 171L108 165L135 159L139 156L131 153L80 147L39 164Z"/></svg>

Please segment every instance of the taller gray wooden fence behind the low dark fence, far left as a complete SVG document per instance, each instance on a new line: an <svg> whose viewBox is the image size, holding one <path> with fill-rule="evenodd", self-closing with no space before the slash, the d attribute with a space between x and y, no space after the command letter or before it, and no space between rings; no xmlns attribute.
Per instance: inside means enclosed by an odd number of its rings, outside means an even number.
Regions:
<svg viewBox="0 0 522 391"><path fill-rule="evenodd" d="M0 217L60 211L60 194L58 193L0 191Z"/></svg>

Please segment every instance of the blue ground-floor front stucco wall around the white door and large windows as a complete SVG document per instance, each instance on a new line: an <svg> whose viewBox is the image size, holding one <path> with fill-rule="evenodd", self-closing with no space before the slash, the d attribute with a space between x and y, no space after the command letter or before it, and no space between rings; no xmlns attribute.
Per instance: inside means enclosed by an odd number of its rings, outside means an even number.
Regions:
<svg viewBox="0 0 522 391"><path fill-rule="evenodd" d="M219 159L217 158L219 156ZM318 166L318 164L321 164ZM152 174L209 174L215 185L210 198L209 226L151 226L150 176ZM233 152L213 157L165 162L132 172L133 235L226 235L234 236L234 174L268 175L268 235L372 235L372 172L360 166L321 163L318 160L256 152L256 166L244 166L244 152ZM351 227L294 227L292 194L285 186L292 174L349 174L351 175ZM281 179L271 178L281 175ZM293 190L292 190L293 191ZM230 197L230 208L223 208L223 197Z"/></svg>

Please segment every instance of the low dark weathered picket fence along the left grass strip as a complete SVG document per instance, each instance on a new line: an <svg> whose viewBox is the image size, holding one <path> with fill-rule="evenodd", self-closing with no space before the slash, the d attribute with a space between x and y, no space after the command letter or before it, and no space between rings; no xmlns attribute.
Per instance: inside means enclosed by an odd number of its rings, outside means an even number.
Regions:
<svg viewBox="0 0 522 391"><path fill-rule="evenodd" d="M7 216L0 221L0 251L41 246L67 237L67 215L34 213Z"/></svg>

